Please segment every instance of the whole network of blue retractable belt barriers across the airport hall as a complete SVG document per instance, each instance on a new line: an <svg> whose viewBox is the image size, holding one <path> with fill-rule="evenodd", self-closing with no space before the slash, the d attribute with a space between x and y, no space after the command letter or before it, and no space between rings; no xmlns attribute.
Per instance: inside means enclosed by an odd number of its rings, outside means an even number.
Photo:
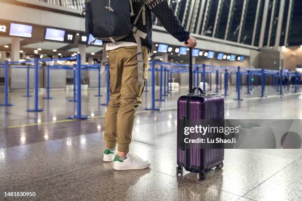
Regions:
<svg viewBox="0 0 302 201"><path fill-rule="evenodd" d="M44 62L56 62L56 61L76 61L74 65L52 65L52 66L41 66L40 63ZM188 64L175 64L175 63L165 63L158 61L150 61L151 71L151 107L146 108L146 110L161 110L155 106L155 101L165 101L165 97L169 96L173 92L172 82L173 82L173 73L188 73L189 65ZM74 76L74 95L73 99L69 100L71 102L77 102L77 112L75 115L70 116L70 119L88 119L89 116L81 114L81 70L95 70L98 71L98 94L95 97L102 97L101 95L101 64L94 65L81 65L80 55L76 57L68 58L59 58L59 59L38 59L21 61L21 62L2 62L0 63L0 68L4 68L4 103L0 106L13 106L14 104L9 103L8 101L8 69L9 68L24 68L27 69L27 90L24 97L31 97L30 95L30 70L35 69L35 107L33 109L28 109L28 112L40 112L45 111L44 108L38 107L38 69L46 69L46 97L43 99L52 99L50 97L50 70L52 69L62 69L62 70L73 70ZM265 81L267 78L270 78L272 81L272 87L277 91L279 95L283 95L283 88L287 91L290 91L290 85L294 88L294 92L297 93L299 89L300 73L298 71L290 71L287 69L281 70L271 70L264 68L248 68L248 67L223 67L223 66L213 66L213 65L192 65L193 70L193 87L199 87L202 81L202 89L204 92L206 90L212 91L212 75L215 76L214 83L216 85L215 93L219 93L219 90L222 92L222 85L224 83L224 95L228 96L228 81L230 76L236 77L236 99L241 99L241 89L242 76L246 76L246 94L251 94L251 91L255 89L258 85L258 81L261 83L261 97L265 96ZM107 71L107 93L106 93L106 103L101 105L108 105L110 101L110 78L109 78L109 66L105 68ZM159 97L155 99L155 72L159 72ZM201 76L200 76L201 75ZM208 76L209 87L206 88L206 77ZM224 80L223 77L224 76ZM255 80L257 79L257 81ZM283 81L283 79L285 79ZM148 85L146 81L146 92L148 92Z"/></svg>

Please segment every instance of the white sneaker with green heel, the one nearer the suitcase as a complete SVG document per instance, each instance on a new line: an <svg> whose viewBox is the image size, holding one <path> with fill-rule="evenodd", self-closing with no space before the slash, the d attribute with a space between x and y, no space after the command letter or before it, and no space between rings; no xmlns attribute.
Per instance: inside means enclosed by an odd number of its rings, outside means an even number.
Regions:
<svg viewBox="0 0 302 201"><path fill-rule="evenodd" d="M128 170L128 169L145 169L150 167L149 161L143 161L140 157L130 152L125 160L121 160L116 155L113 162L113 169Z"/></svg>

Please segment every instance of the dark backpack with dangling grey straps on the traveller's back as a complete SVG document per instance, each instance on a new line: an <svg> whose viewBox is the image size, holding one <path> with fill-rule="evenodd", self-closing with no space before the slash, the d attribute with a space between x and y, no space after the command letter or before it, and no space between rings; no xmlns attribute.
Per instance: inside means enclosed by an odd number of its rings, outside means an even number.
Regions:
<svg viewBox="0 0 302 201"><path fill-rule="evenodd" d="M138 45L138 86L142 86L143 56L141 37L146 38L147 34L137 30L136 23L142 14L143 25L146 25L145 4L143 4L133 24L131 24L131 16L134 16L135 13L133 12L132 0L86 0L83 12L86 13L86 33L91 33L95 37L95 40L100 39L105 42L115 42L130 34L134 35ZM107 64L106 43L104 43L102 73L105 70L104 66Z"/></svg>

